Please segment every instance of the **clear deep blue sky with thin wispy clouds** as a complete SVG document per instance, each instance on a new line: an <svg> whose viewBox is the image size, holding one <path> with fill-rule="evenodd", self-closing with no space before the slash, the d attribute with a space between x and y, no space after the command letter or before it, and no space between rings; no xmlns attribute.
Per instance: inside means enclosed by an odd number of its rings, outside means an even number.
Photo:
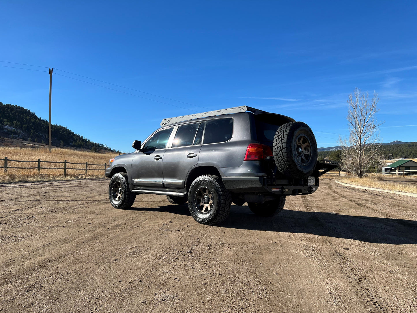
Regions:
<svg viewBox="0 0 417 313"><path fill-rule="evenodd" d="M416 16L414 1L2 1L0 61L53 67L53 123L116 150L239 105L335 146L355 87L379 94L384 142L417 141ZM0 101L47 119L48 69L0 65Z"/></svg>

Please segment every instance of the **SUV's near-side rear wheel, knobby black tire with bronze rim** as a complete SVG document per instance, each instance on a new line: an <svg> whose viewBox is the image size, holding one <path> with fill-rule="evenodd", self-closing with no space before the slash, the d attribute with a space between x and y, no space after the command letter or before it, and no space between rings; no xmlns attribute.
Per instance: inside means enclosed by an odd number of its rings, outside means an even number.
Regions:
<svg viewBox="0 0 417 313"><path fill-rule="evenodd" d="M212 199L212 207L203 213L200 203L203 199L198 199L199 194L204 190L209 190L209 199ZM209 205L210 204L206 204ZM190 186L188 191L188 209L191 216L205 225L215 225L226 220L229 216L231 207L230 192L224 187L224 184L216 175L202 175L197 177Z"/></svg>

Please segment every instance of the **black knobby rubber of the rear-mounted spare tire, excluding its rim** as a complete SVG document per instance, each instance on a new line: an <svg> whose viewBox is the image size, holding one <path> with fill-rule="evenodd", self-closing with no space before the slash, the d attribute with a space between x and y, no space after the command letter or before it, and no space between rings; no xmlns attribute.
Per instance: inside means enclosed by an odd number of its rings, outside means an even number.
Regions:
<svg viewBox="0 0 417 313"><path fill-rule="evenodd" d="M311 133L311 136L309 136L311 141L311 151L315 152L315 160L311 160L312 163L314 163L314 166L306 173L299 169L294 161L292 154L293 147L291 147L292 137L294 136L295 131L300 127L306 128ZM307 178L314 171L315 164L317 163L317 142L313 131L311 131L311 128L306 123L290 122L281 125L275 133L272 149L276 167L281 173L294 178ZM315 151L313 151L314 149Z"/></svg>

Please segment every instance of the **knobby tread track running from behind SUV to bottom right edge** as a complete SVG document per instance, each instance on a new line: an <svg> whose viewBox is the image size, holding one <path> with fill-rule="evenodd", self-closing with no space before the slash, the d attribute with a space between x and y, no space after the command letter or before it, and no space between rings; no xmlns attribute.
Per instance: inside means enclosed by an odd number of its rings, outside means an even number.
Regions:
<svg viewBox="0 0 417 313"><path fill-rule="evenodd" d="M313 213L312 219L319 223L321 227L325 228L326 225L314 214L315 211L311 208L309 200L306 196L301 196L304 208L307 212ZM329 254L332 256L333 261L339 266L343 276L352 285L352 288L356 291L357 295L363 300L363 302L370 306L374 312L394 312L391 306L384 298L379 295L377 288L375 288L366 275L360 273L360 268L354 263L352 259L339 252L337 247L326 237L322 237L327 245L332 247L332 251Z"/></svg>

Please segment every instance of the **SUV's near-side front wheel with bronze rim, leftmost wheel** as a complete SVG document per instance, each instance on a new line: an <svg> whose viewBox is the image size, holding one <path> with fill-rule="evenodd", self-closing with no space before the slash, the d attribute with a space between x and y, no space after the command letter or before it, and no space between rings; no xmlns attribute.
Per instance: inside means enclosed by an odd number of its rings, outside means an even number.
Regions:
<svg viewBox="0 0 417 313"><path fill-rule="evenodd" d="M128 209L135 202L136 194L130 191L127 178L126 173L116 173L108 185L108 198L116 209ZM120 190L117 195L115 188Z"/></svg>

